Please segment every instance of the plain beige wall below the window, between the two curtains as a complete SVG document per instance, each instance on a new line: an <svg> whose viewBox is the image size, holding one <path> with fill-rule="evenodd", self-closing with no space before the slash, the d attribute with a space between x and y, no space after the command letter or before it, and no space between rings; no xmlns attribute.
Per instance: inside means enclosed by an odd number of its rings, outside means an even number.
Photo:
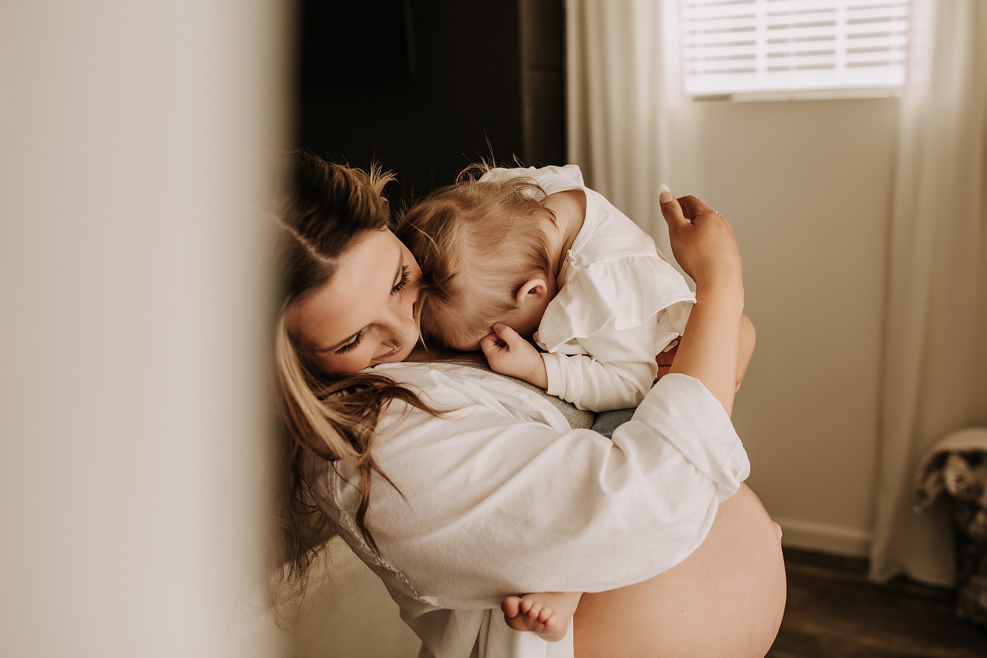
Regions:
<svg viewBox="0 0 987 658"><path fill-rule="evenodd" d="M897 101L693 110L688 191L729 217L758 331L734 412L748 483L790 545L864 554Z"/></svg>

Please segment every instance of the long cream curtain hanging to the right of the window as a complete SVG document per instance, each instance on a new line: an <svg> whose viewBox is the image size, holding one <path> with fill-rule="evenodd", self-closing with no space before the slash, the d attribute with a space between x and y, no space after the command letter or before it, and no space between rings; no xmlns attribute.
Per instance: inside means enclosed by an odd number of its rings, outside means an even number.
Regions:
<svg viewBox="0 0 987 658"><path fill-rule="evenodd" d="M951 584L945 508L911 511L916 468L987 424L987 3L913 0L889 231L871 575Z"/></svg>

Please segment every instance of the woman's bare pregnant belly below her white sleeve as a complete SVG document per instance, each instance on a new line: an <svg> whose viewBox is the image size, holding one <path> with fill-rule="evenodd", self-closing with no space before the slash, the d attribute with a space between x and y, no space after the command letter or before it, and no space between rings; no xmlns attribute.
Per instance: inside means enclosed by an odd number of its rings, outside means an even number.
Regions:
<svg viewBox="0 0 987 658"><path fill-rule="evenodd" d="M583 594L576 658L762 658L785 612L781 532L741 485L703 544L643 583Z"/></svg>

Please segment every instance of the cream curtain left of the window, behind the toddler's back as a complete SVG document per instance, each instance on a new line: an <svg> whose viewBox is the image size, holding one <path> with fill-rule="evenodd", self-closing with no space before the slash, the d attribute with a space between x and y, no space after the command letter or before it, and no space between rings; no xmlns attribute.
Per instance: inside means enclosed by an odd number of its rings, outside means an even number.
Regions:
<svg viewBox="0 0 987 658"><path fill-rule="evenodd" d="M688 186L675 0L567 0L569 162L672 258L658 184ZM672 163L675 166L672 167Z"/></svg>

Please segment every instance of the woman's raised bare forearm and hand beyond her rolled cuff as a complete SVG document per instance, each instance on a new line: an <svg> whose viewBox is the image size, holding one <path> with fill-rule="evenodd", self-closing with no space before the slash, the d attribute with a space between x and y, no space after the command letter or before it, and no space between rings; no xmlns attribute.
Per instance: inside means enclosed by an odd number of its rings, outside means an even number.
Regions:
<svg viewBox="0 0 987 658"><path fill-rule="evenodd" d="M696 305L670 372L695 377L729 413L737 383L743 282L729 222L695 196L661 192L672 253L696 282Z"/></svg>

